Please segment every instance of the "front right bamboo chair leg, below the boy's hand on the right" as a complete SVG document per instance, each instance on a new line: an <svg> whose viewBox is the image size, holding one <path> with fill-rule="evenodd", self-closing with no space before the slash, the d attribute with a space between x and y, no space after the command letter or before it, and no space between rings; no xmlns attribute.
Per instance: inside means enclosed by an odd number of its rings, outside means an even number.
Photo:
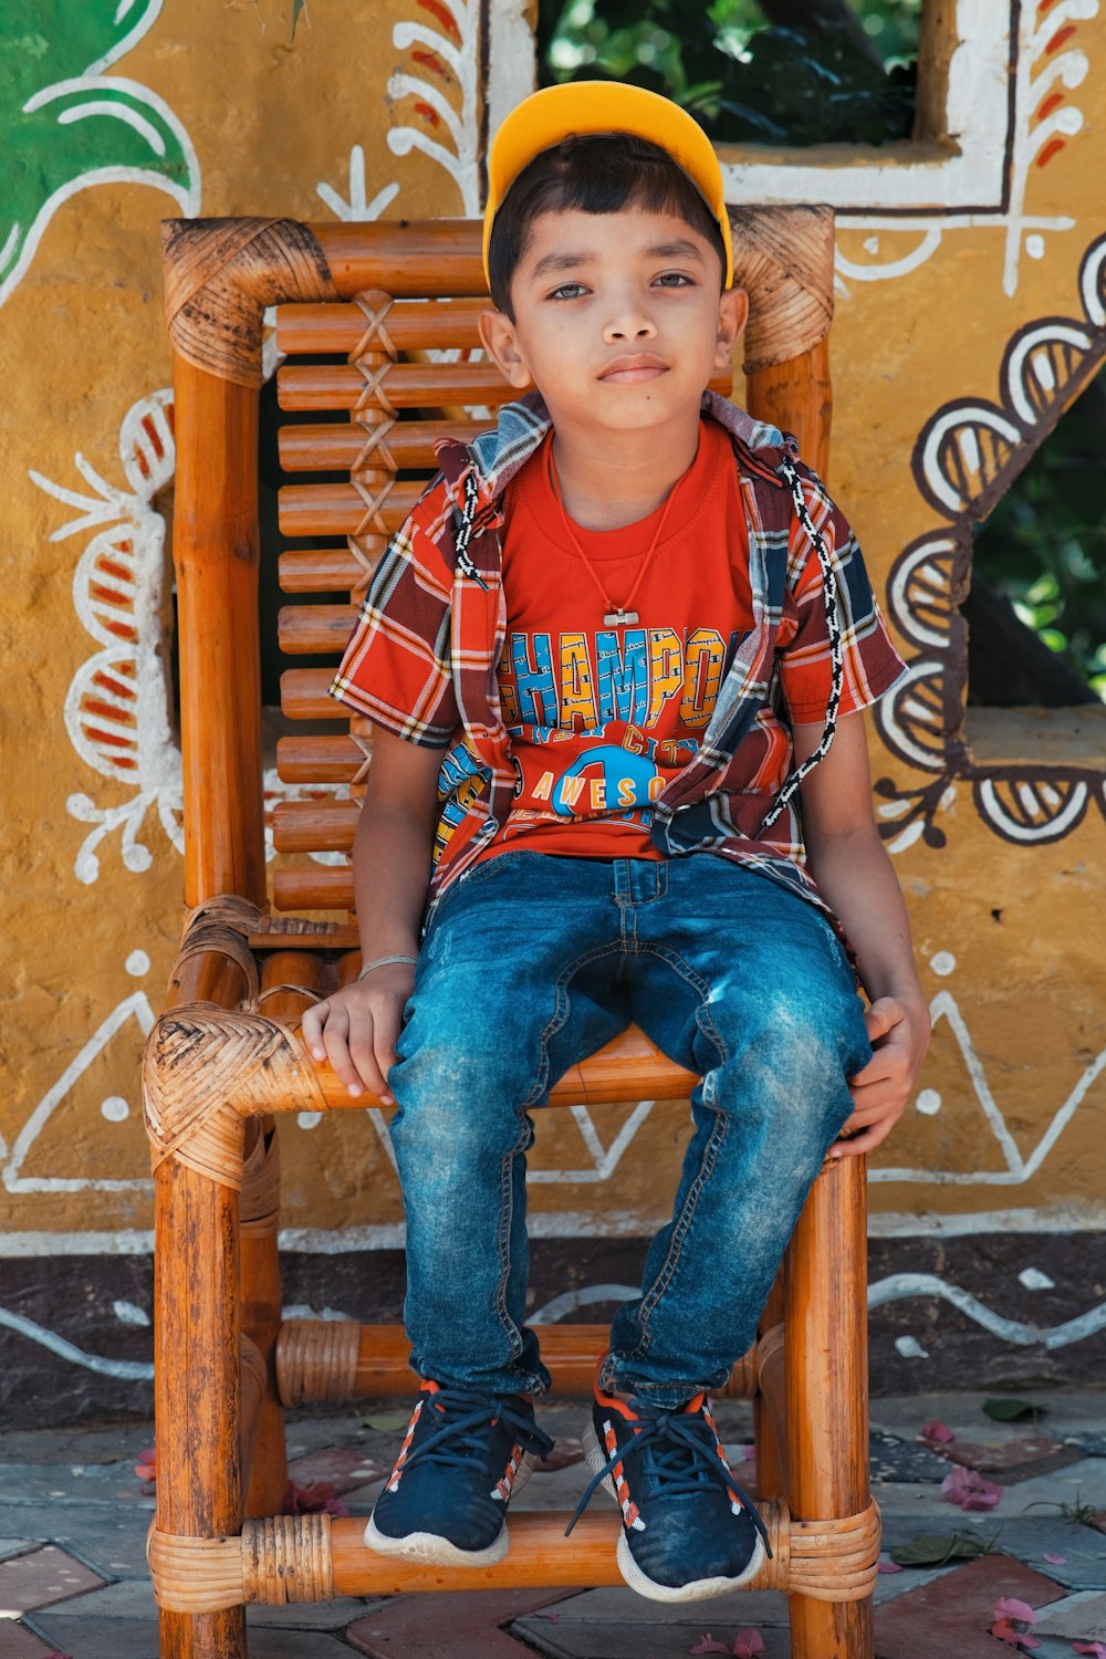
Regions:
<svg viewBox="0 0 1106 1659"><path fill-rule="evenodd" d="M788 1249L788 1500L796 1520L871 1503L864 1158L826 1165ZM872 1601L791 1598L793 1659L872 1659Z"/></svg>

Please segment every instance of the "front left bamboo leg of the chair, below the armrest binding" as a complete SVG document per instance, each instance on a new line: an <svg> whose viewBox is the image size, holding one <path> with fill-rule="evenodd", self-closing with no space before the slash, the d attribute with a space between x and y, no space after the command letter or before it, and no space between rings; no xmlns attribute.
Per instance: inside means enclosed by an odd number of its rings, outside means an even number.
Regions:
<svg viewBox="0 0 1106 1659"><path fill-rule="evenodd" d="M154 1412L159 1531L242 1526L239 1206L176 1158L154 1176ZM245 1659L242 1608L161 1614L161 1659Z"/></svg>

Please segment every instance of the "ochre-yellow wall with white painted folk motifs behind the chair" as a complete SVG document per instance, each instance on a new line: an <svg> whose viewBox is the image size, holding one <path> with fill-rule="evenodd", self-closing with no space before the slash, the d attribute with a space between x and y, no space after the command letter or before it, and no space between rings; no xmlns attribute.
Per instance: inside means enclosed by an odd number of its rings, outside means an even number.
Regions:
<svg viewBox="0 0 1106 1659"><path fill-rule="evenodd" d="M953 1216L980 1231L1103 1219L1103 725L1083 718L1076 732L1065 712L1046 717L1043 735L1040 720L1000 722L995 766L1026 760L1028 771L1013 783L972 780L955 738L937 730L940 697L955 707L960 692L955 650L934 622L948 602L948 549L967 534L950 498L934 504L934 493L948 496L948 456L968 465L978 451L985 471L992 455L1016 466L1055 415L1050 373L1063 400L1103 352L1101 275L1079 292L1084 255L1106 236L1106 197L1088 187L1106 169L1099 12L1098 0L1023 0L1010 8L1021 20L1013 51L1003 7L960 0L943 149L725 158L735 201L774 194L839 207L832 483L905 654L930 665L885 735L872 735L874 775L892 783L882 821L937 1014L917 1103L876 1160L871 1196L884 1231ZM18 60L22 73L38 65L43 91L65 76L88 85L68 103L46 96L33 131L20 126L27 93L8 98L20 156L41 179L38 199L25 191L30 206L0 272L10 980L0 987L0 1246L43 1253L63 1239L88 1251L141 1248L151 1226L138 1058L181 919L158 221L182 211L308 221L473 212L483 96L476 7L463 12L459 0L453 10L448 0L312 0L293 41L290 7L275 0L199 10L167 0L114 36L104 23L99 50L76 68L55 51L61 13L41 0L20 8L18 28L5 25L8 80ZM521 7L494 0L489 13L494 119L527 90L531 70ZM113 40L121 55L88 75ZM126 103L126 118L88 111L103 103L101 83L113 83L106 91ZM85 113L50 124L41 111L51 108ZM66 159L93 121L95 166L85 151ZM95 169L106 176L96 181ZM1071 320L1068 333L1041 333L1003 413L1008 343L1056 317ZM957 431L950 415L952 438L925 484L912 469L919 438L963 400L995 405L998 426L963 413ZM929 574L919 554L914 582L889 589L904 549L927 536ZM902 594L919 591L935 612L910 612ZM922 634L912 639L912 627ZM987 773L982 750L975 761ZM925 790L932 811L919 815ZM1065 815L1079 821L1058 834ZM925 825L943 844L922 838ZM539 1229L640 1231L662 1216L683 1120L663 1107L597 1112L594 1125L562 1115L534 1160ZM284 1213L293 1239L343 1228L395 1236L398 1191L366 1117L289 1121L282 1133L293 1148ZM366 1183L378 1186L373 1204Z"/></svg>

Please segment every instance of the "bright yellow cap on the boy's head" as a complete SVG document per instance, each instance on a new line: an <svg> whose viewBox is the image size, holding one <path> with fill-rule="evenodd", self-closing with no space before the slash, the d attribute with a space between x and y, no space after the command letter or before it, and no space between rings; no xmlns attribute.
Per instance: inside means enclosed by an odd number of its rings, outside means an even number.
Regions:
<svg viewBox="0 0 1106 1659"><path fill-rule="evenodd" d="M544 149L552 149L562 138L584 138L592 133L633 133L635 138L645 138L650 144L667 149L683 168L718 221L726 251L726 287L730 287L733 282L730 219L723 199L721 168L711 141L698 121L670 98L622 81L565 81L562 86L544 86L524 98L504 119L488 156L484 275L488 275L492 221L522 168Z"/></svg>

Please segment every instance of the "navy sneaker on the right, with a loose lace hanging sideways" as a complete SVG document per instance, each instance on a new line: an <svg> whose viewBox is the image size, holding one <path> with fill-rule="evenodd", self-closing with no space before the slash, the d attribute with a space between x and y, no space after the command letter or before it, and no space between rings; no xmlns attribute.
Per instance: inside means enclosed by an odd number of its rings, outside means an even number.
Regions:
<svg viewBox="0 0 1106 1659"><path fill-rule="evenodd" d="M584 1450L622 1510L618 1571L652 1601L705 1601L748 1584L771 1554L756 1508L718 1442L706 1395L668 1408L612 1399L595 1385Z"/></svg>

